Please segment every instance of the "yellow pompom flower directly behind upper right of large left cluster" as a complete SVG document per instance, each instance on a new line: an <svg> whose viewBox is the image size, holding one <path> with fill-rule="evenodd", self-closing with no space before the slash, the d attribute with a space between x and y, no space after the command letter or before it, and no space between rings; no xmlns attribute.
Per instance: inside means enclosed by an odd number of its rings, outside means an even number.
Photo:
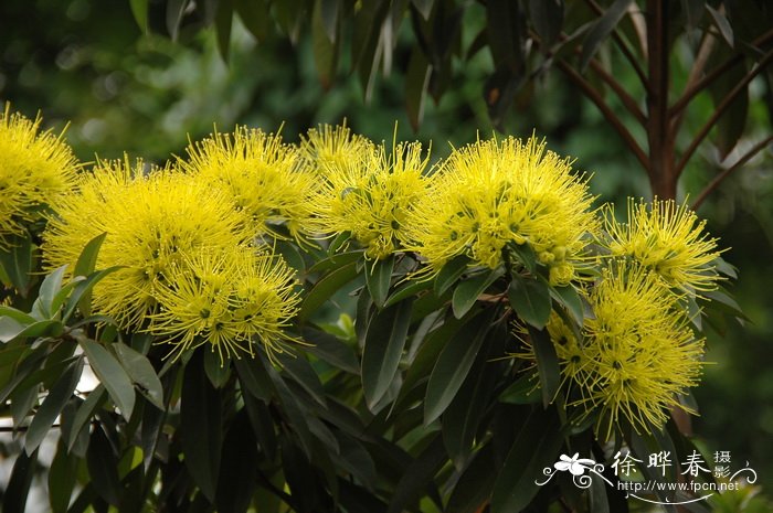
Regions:
<svg viewBox="0 0 773 513"><path fill-rule="evenodd" d="M315 212L317 177L304 165L300 150L282 137L237 127L215 132L188 147L184 171L225 191L234 209L244 212L254 235L280 236L278 225L300 239Z"/></svg>

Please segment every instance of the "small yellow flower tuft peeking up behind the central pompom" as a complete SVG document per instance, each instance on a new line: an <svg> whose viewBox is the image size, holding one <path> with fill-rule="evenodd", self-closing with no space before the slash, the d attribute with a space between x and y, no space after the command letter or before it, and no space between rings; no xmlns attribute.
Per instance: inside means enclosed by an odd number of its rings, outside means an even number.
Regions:
<svg viewBox="0 0 773 513"><path fill-rule="evenodd" d="M359 161L362 154L374 150L374 145L368 138L352 133L346 124L321 125L301 136L300 150L309 167L324 177L326 169Z"/></svg>

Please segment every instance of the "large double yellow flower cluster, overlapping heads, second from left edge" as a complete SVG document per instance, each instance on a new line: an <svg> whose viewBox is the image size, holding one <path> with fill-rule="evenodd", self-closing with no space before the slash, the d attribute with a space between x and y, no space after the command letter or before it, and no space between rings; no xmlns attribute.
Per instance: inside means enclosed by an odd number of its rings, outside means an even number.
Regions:
<svg viewBox="0 0 773 513"><path fill-rule="evenodd" d="M118 269L95 287L95 310L121 328L168 335L180 349L210 342L221 356L236 350L252 354L252 335L271 349L286 339L279 328L297 298L289 270L256 253L248 226L225 191L199 174L169 168L146 173L141 161L99 162L61 201L43 252L51 267L72 266L86 243L105 233L97 268ZM202 322L191 322L182 312L207 304L210 276L229 288L213 292L219 308L213 304ZM256 308L261 316L244 313Z"/></svg>

